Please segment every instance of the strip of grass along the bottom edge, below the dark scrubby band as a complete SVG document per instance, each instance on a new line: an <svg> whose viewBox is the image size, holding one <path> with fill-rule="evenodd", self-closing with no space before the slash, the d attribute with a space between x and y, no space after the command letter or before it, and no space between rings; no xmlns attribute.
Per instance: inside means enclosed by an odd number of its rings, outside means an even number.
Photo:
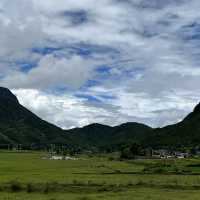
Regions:
<svg viewBox="0 0 200 200"><path fill-rule="evenodd" d="M1 193L1 200L199 200L200 191L136 188L126 192L75 193Z"/></svg>

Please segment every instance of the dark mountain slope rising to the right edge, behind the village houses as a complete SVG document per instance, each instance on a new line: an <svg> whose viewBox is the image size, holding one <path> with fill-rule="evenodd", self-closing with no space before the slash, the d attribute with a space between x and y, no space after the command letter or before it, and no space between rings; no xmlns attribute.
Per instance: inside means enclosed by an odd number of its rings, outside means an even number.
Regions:
<svg viewBox="0 0 200 200"><path fill-rule="evenodd" d="M143 140L143 144L162 147L198 146L200 144L200 104L181 122L157 128Z"/></svg>

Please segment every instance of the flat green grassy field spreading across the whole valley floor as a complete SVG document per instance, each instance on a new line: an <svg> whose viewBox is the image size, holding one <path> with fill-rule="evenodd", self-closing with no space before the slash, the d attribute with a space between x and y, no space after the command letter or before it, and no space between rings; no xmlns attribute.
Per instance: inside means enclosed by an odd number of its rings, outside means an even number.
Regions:
<svg viewBox="0 0 200 200"><path fill-rule="evenodd" d="M0 199L199 200L199 159L56 161L44 156L0 152Z"/></svg>

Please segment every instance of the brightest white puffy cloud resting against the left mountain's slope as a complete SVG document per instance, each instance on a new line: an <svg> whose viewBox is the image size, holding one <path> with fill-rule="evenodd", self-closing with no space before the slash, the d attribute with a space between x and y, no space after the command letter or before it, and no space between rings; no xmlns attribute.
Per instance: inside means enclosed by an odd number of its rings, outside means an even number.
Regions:
<svg viewBox="0 0 200 200"><path fill-rule="evenodd" d="M86 106L83 100L73 95L54 95L34 89L12 90L20 103L43 119L63 128L84 126L92 122L102 122L99 116L108 116L103 108Z"/></svg>

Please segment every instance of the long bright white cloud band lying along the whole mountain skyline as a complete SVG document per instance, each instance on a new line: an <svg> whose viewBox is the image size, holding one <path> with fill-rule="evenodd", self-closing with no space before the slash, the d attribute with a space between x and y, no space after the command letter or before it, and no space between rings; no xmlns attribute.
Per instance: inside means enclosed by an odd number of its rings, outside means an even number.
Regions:
<svg viewBox="0 0 200 200"><path fill-rule="evenodd" d="M55 95L35 89L17 89L12 92L22 105L38 116L66 129L97 122L113 126L127 121L138 121L153 127L163 126L183 119L199 99L199 96L191 98L191 93L184 91L176 96L163 94L163 99L110 91L110 94L115 95L114 99L104 99L103 104L88 104L71 94ZM90 94L100 95L102 92L103 88L93 88Z"/></svg>

